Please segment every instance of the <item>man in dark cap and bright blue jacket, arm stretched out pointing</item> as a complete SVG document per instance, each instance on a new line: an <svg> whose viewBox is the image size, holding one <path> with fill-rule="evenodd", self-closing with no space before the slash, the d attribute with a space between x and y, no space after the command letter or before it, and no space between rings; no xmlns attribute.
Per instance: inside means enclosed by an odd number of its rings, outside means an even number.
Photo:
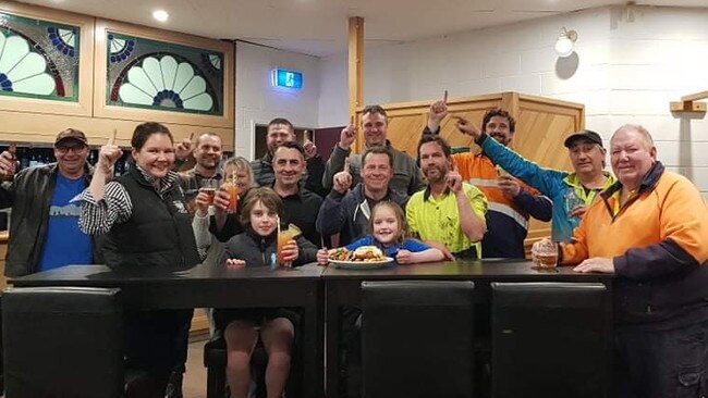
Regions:
<svg viewBox="0 0 708 398"><path fill-rule="evenodd" d="M602 138L589 129L574 133L565 139L574 170L569 173L545 169L524 159L496 139L489 139L486 133L464 119L457 121L457 128L471 135L492 162L553 201L553 241L570 241L587 207L600 191L614 184L614 176L603 171L607 151L602 147Z"/></svg>

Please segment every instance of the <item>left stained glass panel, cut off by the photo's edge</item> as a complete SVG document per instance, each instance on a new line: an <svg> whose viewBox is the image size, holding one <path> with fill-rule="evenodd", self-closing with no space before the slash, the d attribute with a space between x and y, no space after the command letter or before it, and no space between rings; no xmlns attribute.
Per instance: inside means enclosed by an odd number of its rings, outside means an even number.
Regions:
<svg viewBox="0 0 708 398"><path fill-rule="evenodd" d="M78 101L78 26L0 12L0 96Z"/></svg>

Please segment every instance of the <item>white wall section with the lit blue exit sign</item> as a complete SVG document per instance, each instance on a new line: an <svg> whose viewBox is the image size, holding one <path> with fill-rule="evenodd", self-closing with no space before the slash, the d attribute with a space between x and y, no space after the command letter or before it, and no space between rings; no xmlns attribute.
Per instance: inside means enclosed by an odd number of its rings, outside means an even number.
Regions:
<svg viewBox="0 0 708 398"><path fill-rule="evenodd" d="M271 85L276 67L303 73L301 90ZM255 124L285 117L298 127L316 127L319 111L319 59L246 42L236 43L235 154L252 159Z"/></svg>

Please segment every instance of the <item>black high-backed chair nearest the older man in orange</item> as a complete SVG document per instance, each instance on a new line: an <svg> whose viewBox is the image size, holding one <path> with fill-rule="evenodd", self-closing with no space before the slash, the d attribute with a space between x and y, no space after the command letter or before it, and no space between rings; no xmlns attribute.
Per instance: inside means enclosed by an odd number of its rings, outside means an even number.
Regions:
<svg viewBox="0 0 708 398"><path fill-rule="evenodd" d="M611 307L596 283L492 283L492 397L600 398Z"/></svg>

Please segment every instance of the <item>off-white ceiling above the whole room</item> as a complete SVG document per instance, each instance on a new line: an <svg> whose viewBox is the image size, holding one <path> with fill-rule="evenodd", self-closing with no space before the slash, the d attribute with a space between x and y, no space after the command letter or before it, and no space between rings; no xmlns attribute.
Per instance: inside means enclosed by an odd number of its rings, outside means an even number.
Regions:
<svg viewBox="0 0 708 398"><path fill-rule="evenodd" d="M216 39L239 39L324 57L346 51L347 17L365 21L377 46L503 25L622 0L25 0L23 2L156 26ZM639 5L707 7L706 0L643 0ZM166 23L151 13L170 13Z"/></svg>

